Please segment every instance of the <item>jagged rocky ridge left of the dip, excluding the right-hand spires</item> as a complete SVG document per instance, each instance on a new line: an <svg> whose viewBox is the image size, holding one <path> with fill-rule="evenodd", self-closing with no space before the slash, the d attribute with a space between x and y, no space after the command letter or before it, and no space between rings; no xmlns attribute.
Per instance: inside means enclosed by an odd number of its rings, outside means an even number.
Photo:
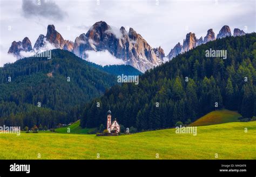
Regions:
<svg viewBox="0 0 256 177"><path fill-rule="evenodd" d="M28 39L28 37L26 37ZM25 38L24 38L25 39ZM28 39L29 40L29 39ZM30 42L30 41L29 41ZM106 22L100 21L92 25L86 33L78 36L75 42L65 40L54 25L48 25L46 36L39 35L33 49L30 46L25 50L21 47L21 42L13 42L8 53L12 53L17 58L22 58L21 51L38 52L41 49L49 50L46 46L50 44L50 49L63 49L75 53L78 57L86 59L86 51L109 51L109 53L119 59L124 60L128 65L145 72L154 66L163 63L164 50L161 47L152 48L146 40L132 28L129 32L122 26L119 31L115 31ZM29 44L28 44L29 45Z"/></svg>

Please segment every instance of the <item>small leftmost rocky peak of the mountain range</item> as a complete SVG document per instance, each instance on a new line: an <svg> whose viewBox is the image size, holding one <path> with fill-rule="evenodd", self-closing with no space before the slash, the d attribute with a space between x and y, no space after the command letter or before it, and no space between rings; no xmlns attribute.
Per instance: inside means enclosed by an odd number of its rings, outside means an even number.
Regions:
<svg viewBox="0 0 256 177"><path fill-rule="evenodd" d="M8 53L15 55L17 58L21 58L20 52L29 52L32 50L32 45L28 37L25 37L22 42L12 42Z"/></svg>

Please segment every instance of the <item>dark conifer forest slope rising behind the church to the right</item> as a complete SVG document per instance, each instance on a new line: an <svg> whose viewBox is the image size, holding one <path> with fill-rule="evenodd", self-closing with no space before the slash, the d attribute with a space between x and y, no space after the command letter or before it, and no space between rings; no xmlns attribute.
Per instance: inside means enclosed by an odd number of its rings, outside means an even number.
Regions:
<svg viewBox="0 0 256 177"><path fill-rule="evenodd" d="M206 57L209 49L227 50L227 59ZM255 69L255 33L218 39L147 71L138 85L111 87L86 104L81 125L105 125L109 107L120 124L139 131L172 127L178 121L189 124L221 108L251 118L256 115Z"/></svg>

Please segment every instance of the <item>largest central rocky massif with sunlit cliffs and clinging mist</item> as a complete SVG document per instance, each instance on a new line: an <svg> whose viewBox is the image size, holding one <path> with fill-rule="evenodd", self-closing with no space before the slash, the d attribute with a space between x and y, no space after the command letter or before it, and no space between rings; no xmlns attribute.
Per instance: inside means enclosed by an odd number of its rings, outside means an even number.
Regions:
<svg viewBox="0 0 256 177"><path fill-rule="evenodd" d="M152 47L132 28L129 32L122 26L114 31L106 22L95 23L87 33L76 38L73 52L86 58L86 51L109 51L116 58L123 59L140 71L146 71L163 62L163 49Z"/></svg>

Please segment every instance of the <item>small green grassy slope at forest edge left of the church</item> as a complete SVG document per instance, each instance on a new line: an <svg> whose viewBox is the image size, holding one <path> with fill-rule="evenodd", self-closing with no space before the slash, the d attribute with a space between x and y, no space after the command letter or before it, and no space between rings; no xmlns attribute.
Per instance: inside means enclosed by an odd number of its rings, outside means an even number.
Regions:
<svg viewBox="0 0 256 177"><path fill-rule="evenodd" d="M55 132L57 133L67 133L68 128L70 128L70 133L75 134L87 134L90 130L93 130L93 128L82 128L80 127L80 120L74 122L73 124L67 126L67 127L61 127L56 128Z"/></svg>

